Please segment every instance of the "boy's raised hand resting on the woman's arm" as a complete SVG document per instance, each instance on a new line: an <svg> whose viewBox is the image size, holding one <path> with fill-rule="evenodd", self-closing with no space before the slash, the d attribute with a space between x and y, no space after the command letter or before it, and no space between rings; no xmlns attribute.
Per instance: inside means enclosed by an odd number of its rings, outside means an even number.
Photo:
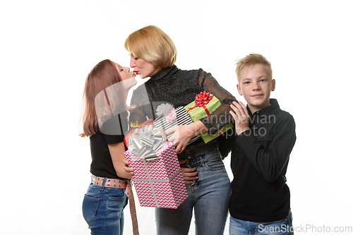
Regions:
<svg viewBox="0 0 353 235"><path fill-rule="evenodd" d="M235 121L235 130L237 131L237 135L249 130L249 113L246 106L240 101L239 104L234 101L233 104L230 104L230 107L234 111L233 112L231 110L229 113L233 116Z"/></svg>

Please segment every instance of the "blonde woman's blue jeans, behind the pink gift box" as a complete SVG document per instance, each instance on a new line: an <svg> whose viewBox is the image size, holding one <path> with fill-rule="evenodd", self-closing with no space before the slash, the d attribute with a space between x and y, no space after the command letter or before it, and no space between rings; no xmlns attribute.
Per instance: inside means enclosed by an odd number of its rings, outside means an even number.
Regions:
<svg viewBox="0 0 353 235"><path fill-rule="evenodd" d="M186 154L192 157L187 164L196 167L198 179L186 184L189 197L177 209L155 209L157 234L188 234L193 210L196 235L223 234L231 187L218 147L198 143L187 147Z"/></svg>

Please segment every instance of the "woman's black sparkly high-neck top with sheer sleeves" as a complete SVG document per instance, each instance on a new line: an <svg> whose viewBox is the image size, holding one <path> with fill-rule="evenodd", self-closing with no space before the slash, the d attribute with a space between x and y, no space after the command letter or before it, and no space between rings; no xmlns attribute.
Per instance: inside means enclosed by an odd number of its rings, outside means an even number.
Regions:
<svg viewBox="0 0 353 235"><path fill-rule="evenodd" d="M156 119L156 109L160 104L172 104L174 108L186 106L195 100L200 92L210 92L222 103L214 112L200 119L214 135L222 126L232 120L229 114L230 105L235 97L222 88L210 73L203 69L185 71L172 66L157 71L150 80L133 91L131 121L142 123L147 119Z"/></svg>

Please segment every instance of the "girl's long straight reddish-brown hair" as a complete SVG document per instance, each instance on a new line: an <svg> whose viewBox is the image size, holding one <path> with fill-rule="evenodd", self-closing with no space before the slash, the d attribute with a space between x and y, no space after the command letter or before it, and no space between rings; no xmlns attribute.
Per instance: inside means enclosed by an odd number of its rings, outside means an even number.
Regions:
<svg viewBox="0 0 353 235"><path fill-rule="evenodd" d="M113 61L100 61L85 81L83 92L83 133L81 137L96 133L102 128L104 119L111 116L114 110L129 110L124 100L121 77Z"/></svg>

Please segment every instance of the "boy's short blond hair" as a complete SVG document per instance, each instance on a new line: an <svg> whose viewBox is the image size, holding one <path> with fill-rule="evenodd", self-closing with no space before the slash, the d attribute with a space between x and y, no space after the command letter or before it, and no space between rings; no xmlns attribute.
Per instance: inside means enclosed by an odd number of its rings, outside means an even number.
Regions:
<svg viewBox="0 0 353 235"><path fill-rule="evenodd" d="M235 72L237 73L238 83L240 83L241 71L245 67L251 66L253 64L263 64L268 71L269 78L272 80L272 67L270 61L268 61L262 54L249 54L243 59L239 59L239 61L237 61L237 64L235 64L237 66Z"/></svg>

